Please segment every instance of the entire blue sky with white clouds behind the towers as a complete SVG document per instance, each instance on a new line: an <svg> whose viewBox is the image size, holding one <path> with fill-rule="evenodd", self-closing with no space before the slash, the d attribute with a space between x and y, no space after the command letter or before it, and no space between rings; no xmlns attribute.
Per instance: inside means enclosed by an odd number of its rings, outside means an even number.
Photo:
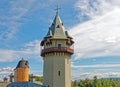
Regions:
<svg viewBox="0 0 120 87"><path fill-rule="evenodd" d="M40 42L56 4L75 42L72 79L120 77L119 0L0 0L0 78L22 58L29 61L30 74L43 74Z"/></svg>

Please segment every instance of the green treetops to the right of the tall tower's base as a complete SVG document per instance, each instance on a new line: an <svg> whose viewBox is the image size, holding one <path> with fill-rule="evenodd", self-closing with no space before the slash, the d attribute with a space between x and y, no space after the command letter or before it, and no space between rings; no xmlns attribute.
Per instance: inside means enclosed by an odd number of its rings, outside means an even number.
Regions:
<svg viewBox="0 0 120 87"><path fill-rule="evenodd" d="M120 87L120 81L112 79L98 79L97 76L93 80L85 79L72 81L72 87Z"/></svg>

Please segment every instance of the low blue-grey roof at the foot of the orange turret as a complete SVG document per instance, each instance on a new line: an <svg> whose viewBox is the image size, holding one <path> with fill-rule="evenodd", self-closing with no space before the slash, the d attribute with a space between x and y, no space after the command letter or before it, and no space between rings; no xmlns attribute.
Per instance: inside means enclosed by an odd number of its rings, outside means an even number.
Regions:
<svg viewBox="0 0 120 87"><path fill-rule="evenodd" d="M12 82L8 84L7 87L45 87L45 86L33 82Z"/></svg>

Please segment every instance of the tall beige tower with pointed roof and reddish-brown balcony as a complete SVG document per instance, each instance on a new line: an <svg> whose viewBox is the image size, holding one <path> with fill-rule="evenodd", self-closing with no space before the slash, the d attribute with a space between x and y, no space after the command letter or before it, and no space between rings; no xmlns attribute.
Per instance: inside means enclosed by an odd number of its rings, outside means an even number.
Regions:
<svg viewBox="0 0 120 87"><path fill-rule="evenodd" d="M57 11L47 35L41 41L41 56L44 61L43 85L46 87L71 87L73 43Z"/></svg>

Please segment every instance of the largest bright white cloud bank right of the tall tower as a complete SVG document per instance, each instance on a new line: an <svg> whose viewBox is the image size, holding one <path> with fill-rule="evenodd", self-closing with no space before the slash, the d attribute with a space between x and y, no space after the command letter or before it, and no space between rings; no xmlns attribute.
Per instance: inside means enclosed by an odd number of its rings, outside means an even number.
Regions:
<svg viewBox="0 0 120 87"><path fill-rule="evenodd" d="M84 4L83 7L81 7L80 1L81 0L78 0L77 3L78 9L84 11L84 9L81 8L85 8L88 10L87 12L85 11L84 14L89 14L88 16L91 20L79 23L69 30L69 33L75 41L75 59L120 56L120 1L96 0L94 4L98 4L99 2L97 11L99 11L100 14L96 14L96 12L92 10L90 10L92 14L89 13L90 6L88 7ZM89 1L90 0L85 0L85 3ZM91 9L95 6L91 7Z"/></svg>

